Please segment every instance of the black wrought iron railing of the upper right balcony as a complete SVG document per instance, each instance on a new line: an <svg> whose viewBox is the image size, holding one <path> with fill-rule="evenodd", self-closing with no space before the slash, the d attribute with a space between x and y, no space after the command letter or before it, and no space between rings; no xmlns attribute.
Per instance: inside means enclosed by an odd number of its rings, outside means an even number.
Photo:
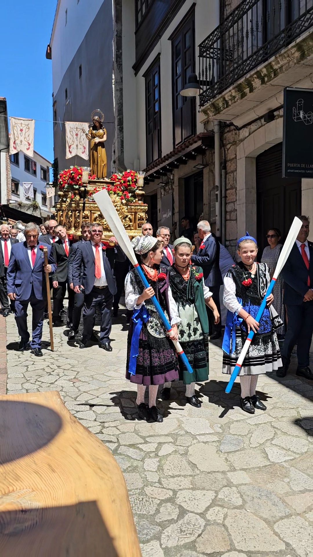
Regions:
<svg viewBox="0 0 313 557"><path fill-rule="evenodd" d="M200 107L313 26L313 0L243 0L199 45Z"/></svg>

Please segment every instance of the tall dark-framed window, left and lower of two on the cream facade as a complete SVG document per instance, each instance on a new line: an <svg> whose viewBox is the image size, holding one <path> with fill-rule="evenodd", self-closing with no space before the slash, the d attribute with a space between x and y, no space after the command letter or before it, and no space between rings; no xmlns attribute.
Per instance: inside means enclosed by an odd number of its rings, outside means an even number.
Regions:
<svg viewBox="0 0 313 557"><path fill-rule="evenodd" d="M160 60L145 74L146 165L161 157Z"/></svg>

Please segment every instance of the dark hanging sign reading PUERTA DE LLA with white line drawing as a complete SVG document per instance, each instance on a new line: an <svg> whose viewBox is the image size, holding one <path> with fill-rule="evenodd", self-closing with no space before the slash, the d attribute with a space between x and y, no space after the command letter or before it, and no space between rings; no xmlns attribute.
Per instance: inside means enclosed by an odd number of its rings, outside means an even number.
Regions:
<svg viewBox="0 0 313 557"><path fill-rule="evenodd" d="M313 90L283 91L282 176L313 178Z"/></svg>

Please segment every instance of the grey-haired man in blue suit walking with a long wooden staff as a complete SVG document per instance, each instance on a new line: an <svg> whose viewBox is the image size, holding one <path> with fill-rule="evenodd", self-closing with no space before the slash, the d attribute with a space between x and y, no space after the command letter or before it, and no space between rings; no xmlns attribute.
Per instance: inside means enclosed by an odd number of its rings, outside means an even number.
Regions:
<svg viewBox="0 0 313 557"><path fill-rule="evenodd" d="M37 224L30 222L25 227L25 242L17 242L12 246L7 272L8 296L15 301L15 320L21 341L19 351L27 348L30 334L27 329L27 307L32 307L32 341L31 352L42 356L41 336L43 310L47 301L45 271L55 271L52 248L48 249L48 265L45 266L43 253L39 248Z"/></svg>

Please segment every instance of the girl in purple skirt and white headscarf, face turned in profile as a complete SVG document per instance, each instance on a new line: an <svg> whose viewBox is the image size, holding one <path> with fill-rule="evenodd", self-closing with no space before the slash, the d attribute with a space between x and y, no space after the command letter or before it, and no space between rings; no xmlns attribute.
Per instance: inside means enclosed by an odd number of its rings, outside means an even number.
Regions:
<svg viewBox="0 0 313 557"><path fill-rule="evenodd" d="M172 325L169 336L173 340L178 339L177 323L180 319L169 287L167 268L159 268L163 256L162 242L153 236L141 236L134 250L140 255L141 268L150 287L143 290L135 269L126 276L125 303L128 310L133 310L128 333L126 379L137 384L135 405L139 417L163 422L162 414L156 408L156 394L159 385L178 379L178 358L151 297L155 294L167 314ZM145 404L146 385L149 385L148 407Z"/></svg>

